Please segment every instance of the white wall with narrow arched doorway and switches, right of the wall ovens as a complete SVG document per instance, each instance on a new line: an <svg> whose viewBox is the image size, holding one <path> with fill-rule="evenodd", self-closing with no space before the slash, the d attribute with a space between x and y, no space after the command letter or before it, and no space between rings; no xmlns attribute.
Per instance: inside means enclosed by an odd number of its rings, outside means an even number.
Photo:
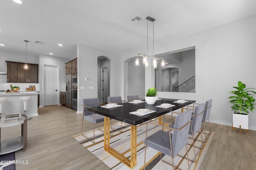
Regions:
<svg viewBox="0 0 256 170"><path fill-rule="evenodd" d="M120 96L121 94L121 56L100 49L88 47L78 44L78 110L77 113L82 113L82 99L98 97L98 57L106 56L110 60L110 96ZM89 80L86 81L85 78ZM81 90L80 87L85 89ZM92 86L94 89L89 89Z"/></svg>

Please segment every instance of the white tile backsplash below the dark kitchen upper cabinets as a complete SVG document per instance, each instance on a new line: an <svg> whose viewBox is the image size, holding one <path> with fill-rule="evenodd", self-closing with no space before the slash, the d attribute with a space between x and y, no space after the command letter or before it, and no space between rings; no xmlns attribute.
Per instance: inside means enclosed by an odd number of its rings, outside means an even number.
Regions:
<svg viewBox="0 0 256 170"><path fill-rule="evenodd" d="M0 74L0 90L10 90L11 84L12 86L19 86L20 91L26 91L26 88L29 88L31 85L36 87L36 91L39 91L38 83L7 83L7 74Z"/></svg>

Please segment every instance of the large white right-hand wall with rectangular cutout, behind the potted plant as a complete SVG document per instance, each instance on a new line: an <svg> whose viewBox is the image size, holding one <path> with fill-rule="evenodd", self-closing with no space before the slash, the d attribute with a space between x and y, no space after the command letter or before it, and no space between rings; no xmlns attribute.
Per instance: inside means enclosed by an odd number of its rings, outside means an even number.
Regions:
<svg viewBox="0 0 256 170"><path fill-rule="evenodd" d="M196 100L199 103L212 99L210 120L232 125L231 105L228 103L231 87L241 80L247 87L256 88L253 76L256 72L255 30L256 16L155 45L156 54L196 46L196 93L158 92L158 97ZM122 61L136 56L138 52L143 52L143 49L122 54ZM122 71L122 76L125 72ZM122 94L124 90L122 88ZM249 129L256 130L256 113L249 113Z"/></svg>

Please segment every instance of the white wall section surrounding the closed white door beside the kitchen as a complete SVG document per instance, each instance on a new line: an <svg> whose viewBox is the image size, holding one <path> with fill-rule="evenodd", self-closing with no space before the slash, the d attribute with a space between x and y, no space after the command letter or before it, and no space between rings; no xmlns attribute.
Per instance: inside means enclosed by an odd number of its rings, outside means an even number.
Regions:
<svg viewBox="0 0 256 170"><path fill-rule="evenodd" d="M75 58L75 57L74 57ZM49 65L55 65L59 66L59 71L60 71L60 88L59 88L59 93L60 91L66 91L66 65L65 63L70 61L70 59L66 58L61 58L61 57L52 57L48 55L39 55L39 83L41 84L40 86L40 98L39 98L39 105L43 106L43 72L44 72L44 64L49 64ZM60 94L58 95L60 96ZM59 100L60 101L60 100Z"/></svg>

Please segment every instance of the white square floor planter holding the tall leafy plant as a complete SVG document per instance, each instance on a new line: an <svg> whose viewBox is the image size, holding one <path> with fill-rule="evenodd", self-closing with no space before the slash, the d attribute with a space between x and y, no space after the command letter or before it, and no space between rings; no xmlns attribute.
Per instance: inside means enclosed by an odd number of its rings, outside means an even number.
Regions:
<svg viewBox="0 0 256 170"><path fill-rule="evenodd" d="M233 127L249 129L248 115L233 113Z"/></svg>

